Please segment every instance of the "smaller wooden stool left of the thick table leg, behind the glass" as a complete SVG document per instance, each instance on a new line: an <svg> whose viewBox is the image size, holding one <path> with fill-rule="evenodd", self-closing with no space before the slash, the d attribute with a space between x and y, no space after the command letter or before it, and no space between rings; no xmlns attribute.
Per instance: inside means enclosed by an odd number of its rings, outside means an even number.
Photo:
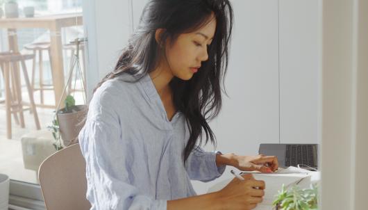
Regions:
<svg viewBox="0 0 368 210"><path fill-rule="evenodd" d="M40 90L40 104L36 104L36 106L45 107L45 108L56 108L56 105L46 105L44 104L44 90L54 90L53 85L45 84L43 79L43 58L42 52L47 51L49 54L50 67L51 67L51 75L52 75L52 65L51 65L51 51L50 51L50 42L35 42L29 45L25 45L24 49L32 50L33 54L35 54L35 58L33 59L32 66L32 82L31 86L33 90ZM36 57L38 53L38 73L40 77L40 88L35 88L35 66L36 66Z"/></svg>

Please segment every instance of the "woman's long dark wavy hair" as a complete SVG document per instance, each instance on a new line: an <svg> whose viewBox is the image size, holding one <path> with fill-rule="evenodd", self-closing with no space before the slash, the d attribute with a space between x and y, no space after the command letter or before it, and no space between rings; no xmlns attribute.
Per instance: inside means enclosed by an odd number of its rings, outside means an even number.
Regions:
<svg viewBox="0 0 368 210"><path fill-rule="evenodd" d="M160 43L166 43L168 38L174 42L181 33L190 33L206 25L212 14L216 19L216 31L208 47L208 60L202 62L201 70L189 81L174 77L169 83L174 106L185 115L190 128L190 138L183 151L184 163L198 143L198 138L199 145L202 144L202 129L206 134L206 144L210 139L216 145L215 135L207 120L215 118L221 109L221 81L224 85L233 28L233 9L228 0L149 1L114 70L94 88L94 91L97 90L104 81L124 72L138 79L152 72L162 56L162 47L156 42L157 29L165 29L160 34Z"/></svg>

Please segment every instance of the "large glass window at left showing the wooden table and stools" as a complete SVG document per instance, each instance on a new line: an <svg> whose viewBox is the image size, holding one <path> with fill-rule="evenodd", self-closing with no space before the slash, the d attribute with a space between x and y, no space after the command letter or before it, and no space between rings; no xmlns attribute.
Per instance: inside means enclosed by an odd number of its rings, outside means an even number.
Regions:
<svg viewBox="0 0 368 210"><path fill-rule="evenodd" d="M52 124L58 99L67 83L72 55L76 54L76 44L72 41L76 38L83 40L85 35L81 0L17 0L14 1L17 4L13 3L12 6L18 8L15 10L18 15L13 18L10 16L16 12L10 13L10 6L5 6L6 2L0 0L1 7L5 9L0 18L0 173L8 175L12 180L11 185L16 186L11 186L10 193L17 193L19 187L37 186L40 163L56 152L53 145L55 140L48 127ZM65 94L72 95L76 104L85 103L83 46L82 42L78 51L83 74L73 74ZM33 55L22 59L26 63L36 112L29 105L31 98L20 63L14 66L10 63L10 83L6 86L4 82L6 58L17 60L17 54ZM60 80L62 77L63 81ZM8 97L6 90L9 90ZM8 109L7 101L11 105ZM24 111L20 111L21 101L25 102L22 106ZM7 124L7 113L10 113L10 124ZM40 129L37 129L36 114ZM37 196L30 198L38 199Z"/></svg>

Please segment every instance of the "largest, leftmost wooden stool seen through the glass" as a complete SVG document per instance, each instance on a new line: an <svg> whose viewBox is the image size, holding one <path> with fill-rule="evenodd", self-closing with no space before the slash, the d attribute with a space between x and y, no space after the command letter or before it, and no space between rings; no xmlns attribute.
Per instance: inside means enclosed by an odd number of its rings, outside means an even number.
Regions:
<svg viewBox="0 0 368 210"><path fill-rule="evenodd" d="M30 106L35 119L37 130L40 129L40 121L38 120L35 102L33 101L33 89L28 79L28 72L26 70L26 63L24 60L33 59L33 54L22 55L19 53L5 53L0 54L0 66L3 72L4 86L5 86L5 105L6 105L6 126L7 138L12 138L12 122L11 113L19 113L21 127L24 128L23 111L28 108L23 106ZM22 65L24 81L28 90L30 103L22 102L22 85L20 81L20 72L18 62ZM10 89L10 74L12 74L12 89ZM13 102L13 104L12 104Z"/></svg>

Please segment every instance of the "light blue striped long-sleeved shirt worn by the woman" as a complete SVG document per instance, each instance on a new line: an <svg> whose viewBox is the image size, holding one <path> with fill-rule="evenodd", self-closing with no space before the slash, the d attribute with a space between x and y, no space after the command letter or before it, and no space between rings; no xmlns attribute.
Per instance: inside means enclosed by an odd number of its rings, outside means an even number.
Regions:
<svg viewBox="0 0 368 210"><path fill-rule="evenodd" d="M167 209L167 200L196 195L191 179L211 181L225 170L217 151L201 147L184 165L183 113L169 121L151 77L126 82L132 79L124 73L97 89L78 136L91 209Z"/></svg>

